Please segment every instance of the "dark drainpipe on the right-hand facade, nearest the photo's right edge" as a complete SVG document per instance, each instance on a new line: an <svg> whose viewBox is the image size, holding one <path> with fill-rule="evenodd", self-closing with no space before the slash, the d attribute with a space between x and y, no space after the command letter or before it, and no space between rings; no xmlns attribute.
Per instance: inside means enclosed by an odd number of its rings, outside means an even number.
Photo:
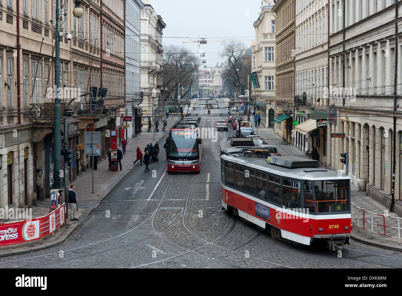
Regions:
<svg viewBox="0 0 402 296"><path fill-rule="evenodd" d="M392 156L392 191L391 191L391 205L390 205L390 211L394 210L394 203L395 203L395 166L396 166L396 117L395 117L395 112L396 112L396 87L397 87L397 81L398 81L398 37L396 36L398 34L398 3L395 1L395 67L394 67L394 127L393 127L393 133L392 133L392 142L394 145L393 148L393 153L394 155ZM401 134L402 135L402 134Z"/></svg>

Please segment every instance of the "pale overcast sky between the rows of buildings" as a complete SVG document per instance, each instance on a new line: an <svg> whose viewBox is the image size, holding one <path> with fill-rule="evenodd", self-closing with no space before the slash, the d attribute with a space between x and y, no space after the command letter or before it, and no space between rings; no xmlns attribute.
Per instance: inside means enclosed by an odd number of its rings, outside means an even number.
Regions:
<svg viewBox="0 0 402 296"><path fill-rule="evenodd" d="M233 37L251 45L251 39L255 39L252 25L260 14L261 0L149 0L149 3L166 23L163 45L185 45L197 53L197 43L182 43L190 39L168 37L207 38L201 49L206 65L212 67L224 61L218 56L223 39Z"/></svg>

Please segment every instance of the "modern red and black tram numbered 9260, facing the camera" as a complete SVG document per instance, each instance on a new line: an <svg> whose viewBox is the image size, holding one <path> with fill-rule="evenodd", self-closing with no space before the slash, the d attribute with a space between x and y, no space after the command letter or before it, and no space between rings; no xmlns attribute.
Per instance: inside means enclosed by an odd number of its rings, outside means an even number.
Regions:
<svg viewBox="0 0 402 296"><path fill-rule="evenodd" d="M202 158L201 117L183 117L170 129L167 160L168 174L200 173Z"/></svg>

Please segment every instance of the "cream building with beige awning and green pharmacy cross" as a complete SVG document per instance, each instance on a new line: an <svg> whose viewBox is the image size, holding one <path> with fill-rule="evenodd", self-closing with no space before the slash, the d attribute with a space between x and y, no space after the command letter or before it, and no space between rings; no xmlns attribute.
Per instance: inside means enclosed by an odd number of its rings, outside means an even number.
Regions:
<svg viewBox="0 0 402 296"><path fill-rule="evenodd" d="M326 154L329 21L329 1L296 0L293 145L323 166L331 163Z"/></svg>

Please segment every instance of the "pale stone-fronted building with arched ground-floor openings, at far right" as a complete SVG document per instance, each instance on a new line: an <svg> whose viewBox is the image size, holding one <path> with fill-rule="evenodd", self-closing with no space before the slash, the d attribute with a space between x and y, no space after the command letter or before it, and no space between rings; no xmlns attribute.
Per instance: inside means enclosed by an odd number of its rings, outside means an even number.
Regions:
<svg viewBox="0 0 402 296"><path fill-rule="evenodd" d="M333 0L329 7L333 89L326 153L331 167L341 170L346 168L339 154L349 152L347 170L352 182L388 206L393 179L394 197L402 198L402 48L400 37L395 37L402 27L402 2L344 1ZM331 133L345 134L345 138L331 138ZM399 203L395 211L402 213Z"/></svg>

